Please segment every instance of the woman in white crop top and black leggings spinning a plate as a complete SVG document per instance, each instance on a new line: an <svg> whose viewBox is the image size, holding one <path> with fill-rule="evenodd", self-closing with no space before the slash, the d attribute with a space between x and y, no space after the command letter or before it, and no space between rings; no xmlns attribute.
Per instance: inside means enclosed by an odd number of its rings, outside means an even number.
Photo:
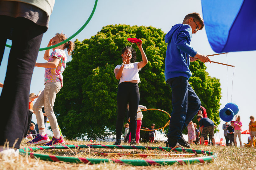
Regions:
<svg viewBox="0 0 256 170"><path fill-rule="evenodd" d="M142 41L136 43L140 52L142 61L136 61L136 52L131 47L122 49L123 63L117 65L114 69L115 78L120 80L116 95L117 100L117 121L116 121L116 141L113 145L120 145L121 133L123 130L124 118L127 104L129 103L130 132L131 145L136 145L136 129L137 129L137 108L140 101L140 92L138 83L140 82L139 70L144 67L148 60L142 48Z"/></svg>

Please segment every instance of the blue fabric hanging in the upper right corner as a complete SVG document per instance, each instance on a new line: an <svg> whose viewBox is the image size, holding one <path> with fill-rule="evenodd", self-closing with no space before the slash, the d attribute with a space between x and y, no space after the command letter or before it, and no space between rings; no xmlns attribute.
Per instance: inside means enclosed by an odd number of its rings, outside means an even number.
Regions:
<svg viewBox="0 0 256 170"><path fill-rule="evenodd" d="M256 0L201 0L208 41L216 53L256 50Z"/></svg>

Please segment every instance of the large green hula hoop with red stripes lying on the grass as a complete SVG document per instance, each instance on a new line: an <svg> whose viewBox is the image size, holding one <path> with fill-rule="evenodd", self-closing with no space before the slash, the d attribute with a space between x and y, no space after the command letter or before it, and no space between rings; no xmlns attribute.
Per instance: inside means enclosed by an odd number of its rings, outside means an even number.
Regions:
<svg viewBox="0 0 256 170"><path fill-rule="evenodd" d="M74 158L65 156L42 155L31 153L28 151L50 150L50 149L139 149L139 150L159 150L205 154L203 157L180 158L180 159L92 159L92 158ZM104 162L112 162L119 164L128 164L135 166L151 166L151 165L171 165L171 164L196 164L204 162L212 162L217 158L217 154L210 151L201 151L194 149L170 148L170 147L141 147L141 146L117 146L117 145L66 145L66 146L42 146L42 147L25 147L20 149L20 155L29 155L32 158L40 158L49 161L63 161L70 163L100 164Z"/></svg>

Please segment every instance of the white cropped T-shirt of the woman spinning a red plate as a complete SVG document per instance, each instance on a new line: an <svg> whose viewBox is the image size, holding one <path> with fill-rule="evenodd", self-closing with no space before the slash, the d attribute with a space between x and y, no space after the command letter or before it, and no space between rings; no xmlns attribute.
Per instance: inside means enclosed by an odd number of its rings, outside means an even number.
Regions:
<svg viewBox="0 0 256 170"><path fill-rule="evenodd" d="M141 68L138 69L138 63L139 62L124 65L124 70L119 83L122 83L125 81L131 81L131 80L139 80L139 82L141 82L140 76L139 76L139 70L141 70ZM121 66L122 64L117 65L114 69L114 73L116 72L116 69L120 69Z"/></svg>

